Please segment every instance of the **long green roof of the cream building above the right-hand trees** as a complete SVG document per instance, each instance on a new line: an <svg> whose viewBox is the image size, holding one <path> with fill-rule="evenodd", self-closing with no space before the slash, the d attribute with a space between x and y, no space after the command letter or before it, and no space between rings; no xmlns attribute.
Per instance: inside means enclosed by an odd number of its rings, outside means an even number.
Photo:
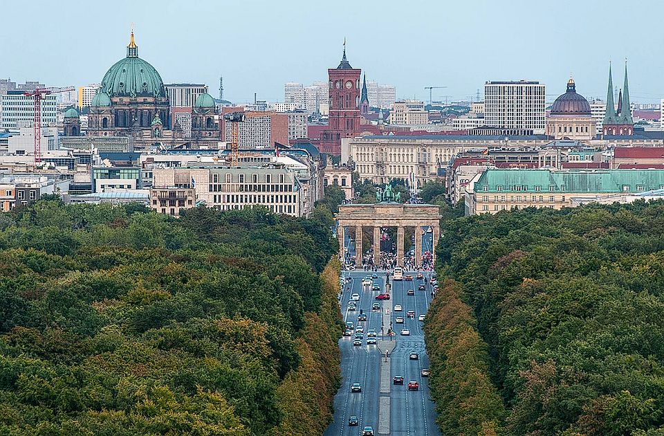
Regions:
<svg viewBox="0 0 664 436"><path fill-rule="evenodd" d="M486 187L486 188L485 188ZM498 170L483 172L474 191L513 192L643 192L664 187L662 170Z"/></svg>

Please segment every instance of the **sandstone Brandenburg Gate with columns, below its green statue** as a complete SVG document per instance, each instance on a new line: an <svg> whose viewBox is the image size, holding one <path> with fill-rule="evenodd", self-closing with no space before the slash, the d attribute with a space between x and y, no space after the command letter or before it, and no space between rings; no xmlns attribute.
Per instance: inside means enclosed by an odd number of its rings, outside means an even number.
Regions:
<svg viewBox="0 0 664 436"><path fill-rule="evenodd" d="M374 265L380 264L380 228L396 227L396 262L403 266L404 229L415 228L415 264L422 261L423 227L431 227L433 232L432 256L435 259L436 242L441 234L441 214L439 206L434 204L402 204L396 202L375 204L347 204L339 206L337 237L340 256L344 255L346 228L355 228L355 262L362 266L362 229L374 230ZM419 229L419 231L418 231Z"/></svg>

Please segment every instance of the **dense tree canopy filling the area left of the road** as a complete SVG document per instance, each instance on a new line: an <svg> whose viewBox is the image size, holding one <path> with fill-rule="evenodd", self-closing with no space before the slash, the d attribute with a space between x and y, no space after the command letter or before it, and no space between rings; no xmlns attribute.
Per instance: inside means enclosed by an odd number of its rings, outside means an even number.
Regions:
<svg viewBox="0 0 664 436"><path fill-rule="evenodd" d="M328 219L0 214L0 435L322 433L340 376Z"/></svg>

